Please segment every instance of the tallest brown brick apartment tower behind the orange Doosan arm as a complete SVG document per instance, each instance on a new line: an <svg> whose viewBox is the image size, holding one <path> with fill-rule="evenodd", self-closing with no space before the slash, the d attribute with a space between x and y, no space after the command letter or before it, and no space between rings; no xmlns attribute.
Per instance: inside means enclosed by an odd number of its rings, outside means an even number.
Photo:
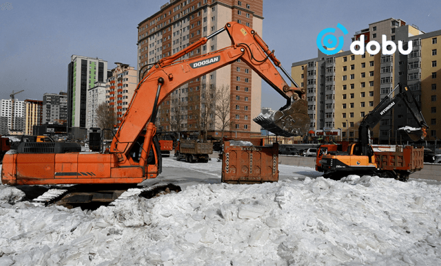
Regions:
<svg viewBox="0 0 441 266"><path fill-rule="evenodd" d="M230 22L252 27L262 36L263 1L172 0L138 25L138 67L141 77L152 64L209 36ZM186 54L181 59L196 58L231 45L222 33ZM156 89L156 88L152 88ZM196 136L201 131L218 135L216 95L229 96L226 135L249 137L259 134L260 126L252 118L260 113L261 78L240 60L211 73L194 77L179 87L161 104L157 124L163 131L186 132ZM222 93L223 92L223 93Z"/></svg>

